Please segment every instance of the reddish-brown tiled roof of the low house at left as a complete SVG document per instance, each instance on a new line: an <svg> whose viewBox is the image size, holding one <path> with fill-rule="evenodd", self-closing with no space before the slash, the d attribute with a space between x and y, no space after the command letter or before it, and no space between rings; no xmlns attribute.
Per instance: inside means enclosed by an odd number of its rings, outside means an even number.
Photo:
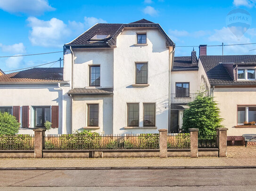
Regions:
<svg viewBox="0 0 256 191"><path fill-rule="evenodd" d="M61 81L63 81L63 68L33 68L0 76L0 84Z"/></svg>

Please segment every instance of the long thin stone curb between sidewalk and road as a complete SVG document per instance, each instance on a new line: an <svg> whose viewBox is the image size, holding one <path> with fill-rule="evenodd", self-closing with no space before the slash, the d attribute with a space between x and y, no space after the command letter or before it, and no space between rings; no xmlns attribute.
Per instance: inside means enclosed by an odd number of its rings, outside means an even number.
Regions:
<svg viewBox="0 0 256 191"><path fill-rule="evenodd" d="M143 170L143 169L227 169L256 168L256 166L187 166L187 167L25 167L0 168L0 170Z"/></svg>

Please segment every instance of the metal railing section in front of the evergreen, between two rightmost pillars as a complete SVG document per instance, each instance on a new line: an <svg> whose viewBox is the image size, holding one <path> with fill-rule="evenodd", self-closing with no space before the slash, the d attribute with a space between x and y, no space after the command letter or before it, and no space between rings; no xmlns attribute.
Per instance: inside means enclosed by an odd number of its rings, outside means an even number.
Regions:
<svg viewBox="0 0 256 191"><path fill-rule="evenodd" d="M198 135L198 148L217 148L217 135Z"/></svg>

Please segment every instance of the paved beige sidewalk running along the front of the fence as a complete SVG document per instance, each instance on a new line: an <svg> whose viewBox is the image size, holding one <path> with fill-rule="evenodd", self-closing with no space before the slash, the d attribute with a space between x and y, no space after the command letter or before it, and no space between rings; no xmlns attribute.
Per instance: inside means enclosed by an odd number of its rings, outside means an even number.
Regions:
<svg viewBox="0 0 256 191"><path fill-rule="evenodd" d="M228 157L0 159L0 168L256 166L256 146L229 146Z"/></svg>

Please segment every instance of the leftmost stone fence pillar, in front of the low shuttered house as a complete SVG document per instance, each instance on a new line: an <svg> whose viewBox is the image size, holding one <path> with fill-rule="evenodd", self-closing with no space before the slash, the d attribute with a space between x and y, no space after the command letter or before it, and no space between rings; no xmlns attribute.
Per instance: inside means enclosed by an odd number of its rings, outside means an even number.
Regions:
<svg viewBox="0 0 256 191"><path fill-rule="evenodd" d="M43 158L42 150L44 149L45 129L34 129L34 152L35 158Z"/></svg>

